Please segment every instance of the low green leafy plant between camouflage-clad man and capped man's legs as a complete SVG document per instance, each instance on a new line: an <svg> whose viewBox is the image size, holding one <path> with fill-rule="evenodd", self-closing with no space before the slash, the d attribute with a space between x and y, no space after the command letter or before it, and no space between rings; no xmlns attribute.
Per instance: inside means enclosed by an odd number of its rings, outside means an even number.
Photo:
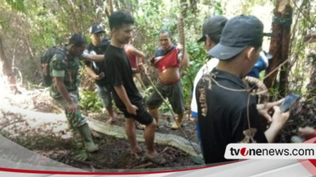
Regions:
<svg viewBox="0 0 316 177"><path fill-rule="evenodd" d="M103 107L97 92L85 90L80 91L79 106L81 106L84 110L90 111L101 111Z"/></svg>

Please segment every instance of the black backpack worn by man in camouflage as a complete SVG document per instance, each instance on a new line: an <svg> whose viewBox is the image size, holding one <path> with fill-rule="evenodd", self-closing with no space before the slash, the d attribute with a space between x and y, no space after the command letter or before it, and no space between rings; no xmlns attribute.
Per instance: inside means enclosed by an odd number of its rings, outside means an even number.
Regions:
<svg viewBox="0 0 316 177"><path fill-rule="evenodd" d="M40 58L40 63L42 66L42 83L43 86L49 87L52 85L52 77L49 70L49 63L55 54L65 55L65 51L63 49L59 49L57 47L49 48Z"/></svg>

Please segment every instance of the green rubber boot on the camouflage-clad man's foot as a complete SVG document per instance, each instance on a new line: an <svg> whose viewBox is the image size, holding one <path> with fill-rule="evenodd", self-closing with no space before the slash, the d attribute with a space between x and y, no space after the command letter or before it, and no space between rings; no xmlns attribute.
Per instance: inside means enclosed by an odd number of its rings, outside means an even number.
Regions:
<svg viewBox="0 0 316 177"><path fill-rule="evenodd" d="M77 128L79 133L81 134L84 142L84 146L88 152L95 152L98 151L99 148L97 145L94 144L90 128L88 123L83 124L82 126Z"/></svg>

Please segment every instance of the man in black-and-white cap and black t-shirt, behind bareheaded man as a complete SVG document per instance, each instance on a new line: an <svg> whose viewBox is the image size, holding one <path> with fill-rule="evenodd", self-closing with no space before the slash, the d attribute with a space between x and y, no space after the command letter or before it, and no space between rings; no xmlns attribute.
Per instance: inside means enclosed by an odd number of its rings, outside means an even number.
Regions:
<svg viewBox="0 0 316 177"><path fill-rule="evenodd" d="M89 54L104 54L106 48L109 46L109 40L103 39L102 35L105 31L100 25L92 25L89 29L91 34L91 43L88 44L86 52ZM102 100L103 107L106 108L109 113L109 120L107 123L113 123L115 121L113 109L112 109L112 98L111 98L111 85L105 76L104 61L93 62L85 61L85 69L91 77L95 79L98 94Z"/></svg>

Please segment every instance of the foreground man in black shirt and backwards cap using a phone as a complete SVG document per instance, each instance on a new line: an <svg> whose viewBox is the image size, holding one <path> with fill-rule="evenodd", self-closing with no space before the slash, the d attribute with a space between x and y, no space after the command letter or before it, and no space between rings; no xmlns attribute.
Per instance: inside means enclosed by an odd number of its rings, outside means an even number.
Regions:
<svg viewBox="0 0 316 177"><path fill-rule="evenodd" d="M241 78L249 73L259 59L262 42L262 22L254 16L239 15L228 20L220 43L208 52L219 59L219 63L210 73L216 83L200 79L196 90L205 163L227 161L224 158L226 146L242 141L245 138L243 132L249 129L248 113L250 127L256 129L253 139L257 143L273 142L289 117L289 112L281 113L275 103L267 104L268 108L274 106L275 112L270 128L264 132L259 112L265 114L268 109L265 108L265 112L258 111L255 97L250 96L248 104L248 93L240 91L246 89ZM206 116L203 116L200 104L203 88L206 90ZM202 95L201 102L203 101Z"/></svg>

